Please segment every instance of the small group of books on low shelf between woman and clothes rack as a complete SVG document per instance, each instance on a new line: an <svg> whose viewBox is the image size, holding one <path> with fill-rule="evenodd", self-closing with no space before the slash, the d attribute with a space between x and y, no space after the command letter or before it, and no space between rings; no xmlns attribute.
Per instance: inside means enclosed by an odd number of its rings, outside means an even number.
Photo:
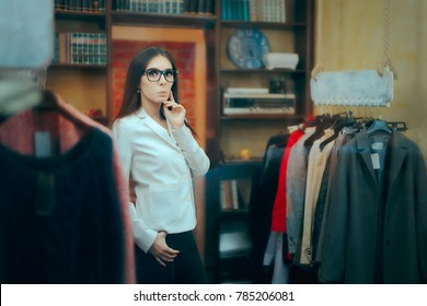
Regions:
<svg viewBox="0 0 427 306"><path fill-rule="evenodd" d="M246 210L251 197L251 183L244 179L220 181L220 203L222 210Z"/></svg>

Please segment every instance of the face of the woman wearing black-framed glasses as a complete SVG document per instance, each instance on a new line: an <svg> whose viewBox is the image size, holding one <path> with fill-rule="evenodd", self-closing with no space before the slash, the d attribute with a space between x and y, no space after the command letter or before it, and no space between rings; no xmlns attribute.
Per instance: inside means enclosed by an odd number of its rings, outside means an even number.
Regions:
<svg viewBox="0 0 427 306"><path fill-rule="evenodd" d="M173 78L173 75L171 76L172 63L168 58L157 56L149 61L146 70L149 70L149 72L146 72L141 76L140 83L142 105L148 106L147 104L151 104L152 106L159 107L161 103L169 99L171 93L173 82L166 81L166 78L169 76L170 80ZM158 79L159 71L163 71L164 73L160 73L160 79L153 81Z"/></svg>

